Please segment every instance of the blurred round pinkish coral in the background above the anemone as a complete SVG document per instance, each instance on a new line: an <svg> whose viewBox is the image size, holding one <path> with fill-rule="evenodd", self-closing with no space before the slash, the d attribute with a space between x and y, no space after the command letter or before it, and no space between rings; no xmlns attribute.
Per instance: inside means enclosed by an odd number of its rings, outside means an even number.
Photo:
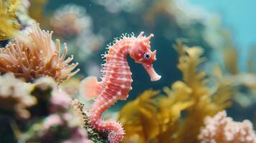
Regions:
<svg viewBox="0 0 256 143"><path fill-rule="evenodd" d="M87 29L87 26L91 25L91 21L82 6L67 4L54 11L50 19L50 26L58 36L68 38Z"/></svg>

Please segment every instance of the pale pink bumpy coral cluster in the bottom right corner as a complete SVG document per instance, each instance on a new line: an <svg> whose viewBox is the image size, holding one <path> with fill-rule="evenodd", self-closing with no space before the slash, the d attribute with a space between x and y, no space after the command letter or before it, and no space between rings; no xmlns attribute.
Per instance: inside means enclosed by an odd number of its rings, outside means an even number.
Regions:
<svg viewBox="0 0 256 143"><path fill-rule="evenodd" d="M226 111L219 112L214 117L204 119L205 127L201 129L198 139L202 143L253 143L256 142L256 134L249 120L234 122L227 117Z"/></svg>

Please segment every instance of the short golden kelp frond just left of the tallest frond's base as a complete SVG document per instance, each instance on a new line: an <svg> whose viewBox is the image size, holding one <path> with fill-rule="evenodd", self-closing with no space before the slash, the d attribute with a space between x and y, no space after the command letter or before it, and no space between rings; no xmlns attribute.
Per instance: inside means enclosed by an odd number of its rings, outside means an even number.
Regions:
<svg viewBox="0 0 256 143"><path fill-rule="evenodd" d="M181 112L194 104L190 94L192 90L178 81L172 84L171 89L164 87L165 96L158 99L158 121L161 126L161 132L158 134L158 142L174 142L176 134L181 126ZM171 134L171 135L170 135Z"/></svg>

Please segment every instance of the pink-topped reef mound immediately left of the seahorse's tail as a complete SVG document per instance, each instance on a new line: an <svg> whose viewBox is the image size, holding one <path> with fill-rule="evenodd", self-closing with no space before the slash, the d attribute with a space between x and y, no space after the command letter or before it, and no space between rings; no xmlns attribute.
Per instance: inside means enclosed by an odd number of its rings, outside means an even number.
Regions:
<svg viewBox="0 0 256 143"><path fill-rule="evenodd" d="M34 126L42 126L37 130L36 139L27 139L28 141L41 142L91 142L87 137L87 132L82 127L82 120L75 116L70 104L71 99L65 92L55 92L49 99L49 115L43 119L42 123ZM42 124L42 125L41 125ZM33 128L32 128L33 129Z"/></svg>

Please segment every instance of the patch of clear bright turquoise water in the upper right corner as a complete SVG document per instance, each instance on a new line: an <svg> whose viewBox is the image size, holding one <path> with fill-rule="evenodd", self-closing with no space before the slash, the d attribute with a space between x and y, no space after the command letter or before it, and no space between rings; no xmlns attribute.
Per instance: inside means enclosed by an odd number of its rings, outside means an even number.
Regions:
<svg viewBox="0 0 256 143"><path fill-rule="evenodd" d="M256 44L255 0L190 0L207 11L219 13L223 25L231 29L234 45L239 53L239 69L246 71L249 48Z"/></svg>

